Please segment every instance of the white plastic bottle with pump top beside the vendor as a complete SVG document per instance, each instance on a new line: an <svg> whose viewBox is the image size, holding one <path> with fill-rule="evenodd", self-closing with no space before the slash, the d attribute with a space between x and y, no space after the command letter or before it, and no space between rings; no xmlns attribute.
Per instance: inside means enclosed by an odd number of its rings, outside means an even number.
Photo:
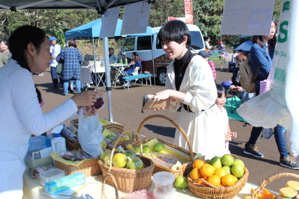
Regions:
<svg viewBox="0 0 299 199"><path fill-rule="evenodd" d="M61 137L60 131L65 127L65 124L56 126L52 129L51 133L54 133L54 138L51 139L52 151L54 153L61 153L66 151L65 139Z"/></svg>

